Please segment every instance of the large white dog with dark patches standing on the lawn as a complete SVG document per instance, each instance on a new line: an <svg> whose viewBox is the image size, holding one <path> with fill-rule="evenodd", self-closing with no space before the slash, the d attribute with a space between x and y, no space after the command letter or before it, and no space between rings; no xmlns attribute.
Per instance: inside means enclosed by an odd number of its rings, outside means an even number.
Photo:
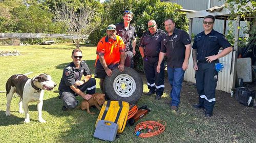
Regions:
<svg viewBox="0 0 256 143"><path fill-rule="evenodd" d="M46 73L37 75L32 79L23 74L12 75L6 82L6 116L10 116L11 100L13 94L16 93L20 98L18 103L19 113L25 112L24 122L30 122L28 103L37 102L38 121L45 123L46 121L42 119L42 99L44 98L44 91L51 91L56 85L57 84L52 81L52 77Z"/></svg>

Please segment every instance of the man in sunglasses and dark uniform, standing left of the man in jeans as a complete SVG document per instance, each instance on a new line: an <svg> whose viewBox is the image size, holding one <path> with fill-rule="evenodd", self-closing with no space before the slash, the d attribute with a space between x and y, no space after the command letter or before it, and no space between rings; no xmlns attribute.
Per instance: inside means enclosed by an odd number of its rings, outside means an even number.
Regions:
<svg viewBox="0 0 256 143"><path fill-rule="evenodd" d="M147 88L150 90L146 95L156 93L156 100L160 100L164 91L164 62L161 62L160 72L157 72L161 40L165 32L157 29L155 20L147 22L148 31L140 38L139 50L143 59L144 72L147 80Z"/></svg>

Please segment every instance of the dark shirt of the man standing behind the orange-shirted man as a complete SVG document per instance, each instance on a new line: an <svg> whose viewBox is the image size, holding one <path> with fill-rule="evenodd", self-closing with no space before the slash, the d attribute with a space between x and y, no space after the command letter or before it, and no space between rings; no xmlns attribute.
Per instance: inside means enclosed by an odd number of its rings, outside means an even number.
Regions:
<svg viewBox="0 0 256 143"><path fill-rule="evenodd" d="M129 50L130 43L132 40L134 40L137 37L135 27L129 24L129 27L127 30L124 28L124 23L118 23L116 24L116 31L117 35L121 36L123 39L123 42L125 44L125 49Z"/></svg>

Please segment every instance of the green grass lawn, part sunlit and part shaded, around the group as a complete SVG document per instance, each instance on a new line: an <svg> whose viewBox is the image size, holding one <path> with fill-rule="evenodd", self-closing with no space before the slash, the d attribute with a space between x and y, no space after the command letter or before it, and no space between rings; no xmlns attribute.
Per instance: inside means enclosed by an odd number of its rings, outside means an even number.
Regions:
<svg viewBox="0 0 256 143"><path fill-rule="evenodd" d="M73 48L72 44L1 46L0 50L18 50L22 55L0 56L0 91L5 91L7 79L16 73L33 72L28 75L30 78L39 73L48 73L56 83L59 83L63 68L72 61ZM94 74L96 47L81 47L81 49L83 59L87 60ZM141 76L146 83L145 76L143 74ZM100 92L99 80L96 80L96 92ZM186 85L184 87L189 88ZM115 142L255 142L255 130L243 124L233 123L225 115L205 118L202 110L195 110L187 104L184 100L186 93L182 93L179 112L170 111L166 103L170 100L169 90L166 82L165 93L160 101L156 101L153 96L145 95L142 95L138 101L138 106L146 104L152 109L139 122L165 121L167 125L162 134L151 138L139 138L134 135L135 126L126 127ZM146 84L144 84L144 92L147 91ZM193 92L196 95L196 91ZM45 92L42 117L47 123L44 124L37 121L35 103L29 104L31 122L23 123L24 114L18 113L19 99L17 97L11 102L11 116L6 117L6 94L0 93L0 96L2 99L0 100L0 142L105 142L93 137L99 111L92 108L92 111L97 113L96 115L89 115L86 111L78 109L62 111L62 102L57 97L57 88L52 92ZM80 97L78 99L81 100Z"/></svg>

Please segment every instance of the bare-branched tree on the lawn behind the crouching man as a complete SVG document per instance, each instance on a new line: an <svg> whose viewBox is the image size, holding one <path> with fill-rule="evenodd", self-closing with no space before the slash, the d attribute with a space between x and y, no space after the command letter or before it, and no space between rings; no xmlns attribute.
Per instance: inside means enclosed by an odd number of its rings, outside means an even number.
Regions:
<svg viewBox="0 0 256 143"><path fill-rule="evenodd" d="M77 9L62 3L55 9L55 20L67 26L67 33L72 36L77 48L83 39L88 38L100 26L100 13L89 2Z"/></svg>

